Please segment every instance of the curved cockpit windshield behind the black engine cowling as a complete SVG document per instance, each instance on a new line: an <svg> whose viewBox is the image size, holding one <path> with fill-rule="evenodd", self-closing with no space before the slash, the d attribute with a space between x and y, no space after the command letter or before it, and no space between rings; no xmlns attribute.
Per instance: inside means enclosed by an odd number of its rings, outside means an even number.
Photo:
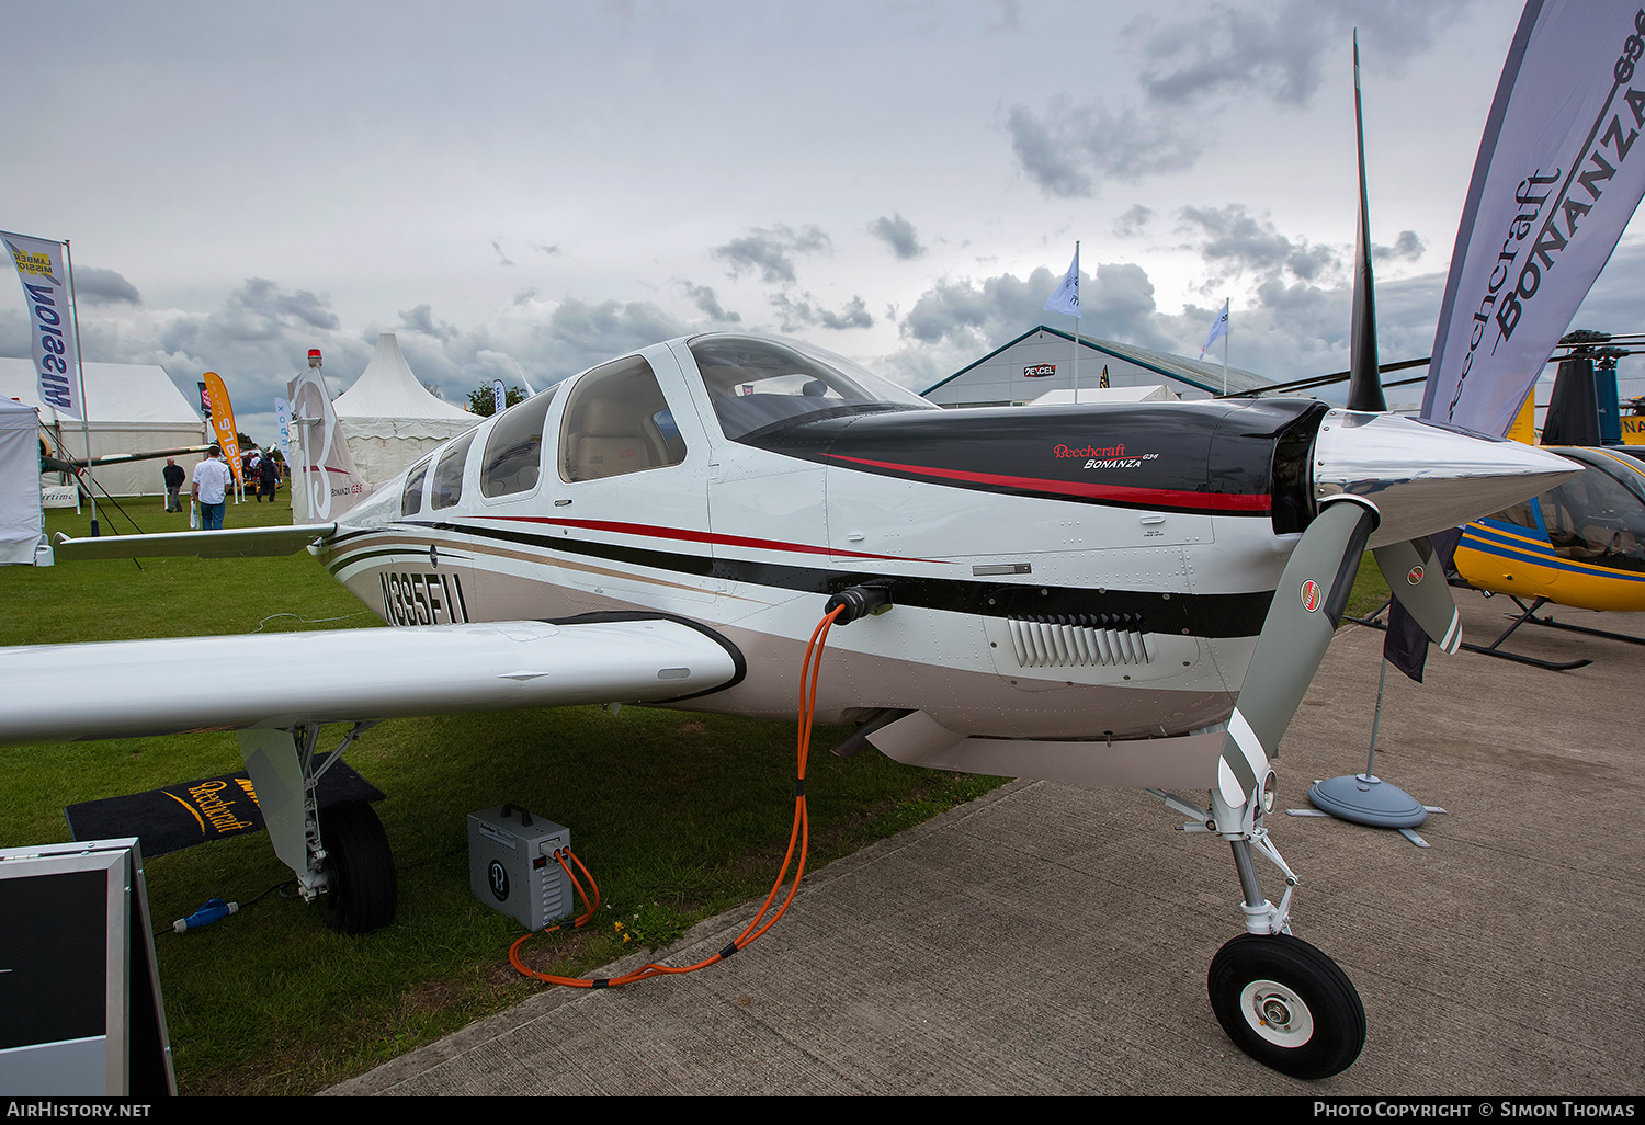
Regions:
<svg viewBox="0 0 1645 1125"><path fill-rule="evenodd" d="M799 419L939 410L842 355L791 340L699 336L689 347L721 429L732 441Z"/></svg>

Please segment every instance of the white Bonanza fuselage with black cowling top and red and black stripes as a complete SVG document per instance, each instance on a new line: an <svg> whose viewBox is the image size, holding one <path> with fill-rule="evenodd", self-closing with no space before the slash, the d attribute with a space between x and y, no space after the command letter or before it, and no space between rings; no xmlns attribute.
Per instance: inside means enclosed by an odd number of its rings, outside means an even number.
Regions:
<svg viewBox="0 0 1645 1125"><path fill-rule="evenodd" d="M827 597L888 584L829 641L821 720L1107 743L1229 717L1316 497L1355 487L1311 464L1357 424L1316 401L941 411L869 380L772 340L660 344L452 439L322 556L392 625L699 622L747 673L678 706L767 717Z"/></svg>

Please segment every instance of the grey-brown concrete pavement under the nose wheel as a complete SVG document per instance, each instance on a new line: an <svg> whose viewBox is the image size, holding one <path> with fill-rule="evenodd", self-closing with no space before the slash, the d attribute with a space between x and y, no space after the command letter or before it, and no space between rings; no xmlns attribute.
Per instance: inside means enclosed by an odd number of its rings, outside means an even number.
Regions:
<svg viewBox="0 0 1645 1125"><path fill-rule="evenodd" d="M1489 643L1505 597L1459 590ZM1645 613L1550 607L1645 637ZM1242 1054L1206 970L1242 933L1227 845L1147 794L1015 781L808 873L755 946L627 988L544 988L329 1094L1645 1094L1645 646L1523 627L1545 671L1430 651L1390 673L1377 775L1448 809L1395 832L1278 809L1365 768L1382 633L1337 632L1285 737L1270 832L1293 928L1354 980L1370 1028L1344 1074ZM1204 804L1202 793L1184 798ZM1267 860L1270 898L1283 880ZM757 903L678 946L725 946Z"/></svg>

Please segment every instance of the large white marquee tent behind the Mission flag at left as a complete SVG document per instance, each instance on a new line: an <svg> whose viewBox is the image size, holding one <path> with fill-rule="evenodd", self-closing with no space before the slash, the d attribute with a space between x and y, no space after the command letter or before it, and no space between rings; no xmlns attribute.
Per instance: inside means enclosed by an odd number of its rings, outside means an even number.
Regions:
<svg viewBox="0 0 1645 1125"><path fill-rule="evenodd" d="M94 457L176 449L211 441L199 413L158 363L82 363L82 367ZM39 419L61 434L67 454L76 459L86 457L79 419L59 418L58 411L39 401L33 360L0 357L0 398L15 398L25 406L38 408ZM192 470L199 459L199 454L188 454L178 457L178 464ZM160 495L166 490L160 477L164 464L164 461L137 461L102 465L92 470L92 477L117 497Z"/></svg>

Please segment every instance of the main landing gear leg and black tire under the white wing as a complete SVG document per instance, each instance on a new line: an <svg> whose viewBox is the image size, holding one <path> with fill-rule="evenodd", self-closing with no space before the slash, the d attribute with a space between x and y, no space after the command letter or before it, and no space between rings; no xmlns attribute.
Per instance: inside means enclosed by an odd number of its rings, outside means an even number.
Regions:
<svg viewBox="0 0 1645 1125"><path fill-rule="evenodd" d="M319 808L316 785L332 762L375 724L357 722L331 755L319 760L319 727L242 730L240 755L257 789L275 855L298 877L306 901L336 931L365 934L395 919L398 880L388 834L365 801Z"/></svg>

